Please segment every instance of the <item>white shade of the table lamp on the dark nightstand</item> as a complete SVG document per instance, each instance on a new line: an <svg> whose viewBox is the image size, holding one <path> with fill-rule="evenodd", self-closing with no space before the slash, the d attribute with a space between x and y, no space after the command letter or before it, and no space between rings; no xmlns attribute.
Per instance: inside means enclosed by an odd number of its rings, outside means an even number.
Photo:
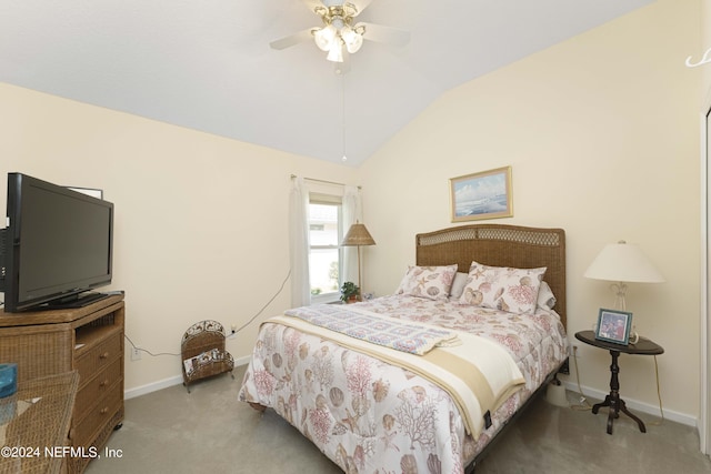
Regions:
<svg viewBox="0 0 711 474"><path fill-rule="evenodd" d="M624 241L605 245L588 266L584 276L629 283L664 282L642 250Z"/></svg>

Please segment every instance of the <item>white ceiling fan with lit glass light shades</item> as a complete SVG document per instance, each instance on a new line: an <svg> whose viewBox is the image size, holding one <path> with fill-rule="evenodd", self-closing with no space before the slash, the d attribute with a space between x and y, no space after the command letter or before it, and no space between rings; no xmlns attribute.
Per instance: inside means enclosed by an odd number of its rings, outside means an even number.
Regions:
<svg viewBox="0 0 711 474"><path fill-rule="evenodd" d="M360 50L363 40L404 46L410 41L408 31L380 24L358 22L356 17L372 0L303 0L311 11L321 17L322 27L309 28L298 33L274 40L269 46L282 50L294 44L313 40L329 61L336 62L337 73L348 69L349 54ZM343 67L346 64L346 68Z"/></svg>

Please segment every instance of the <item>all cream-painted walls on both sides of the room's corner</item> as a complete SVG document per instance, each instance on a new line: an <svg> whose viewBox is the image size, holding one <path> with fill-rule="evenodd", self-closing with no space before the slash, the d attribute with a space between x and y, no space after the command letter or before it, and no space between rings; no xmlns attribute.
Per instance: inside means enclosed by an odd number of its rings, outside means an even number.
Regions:
<svg viewBox="0 0 711 474"><path fill-rule="evenodd" d="M0 175L104 190L117 204L112 286L127 291L127 334L177 353L191 323L241 325L279 290L290 173L363 185L378 242L364 249L364 291L385 294L413 262L414 233L451 224L448 180L510 164L514 218L501 222L567 231L571 341L612 304L604 282L582 278L604 244L639 243L664 274L630 285L628 305L665 349L665 409L695 417L701 73L683 61L699 50L699 11L660 0L457 88L358 170L0 84ZM288 304L287 285L260 319ZM247 356L254 334L252 324L228 350ZM581 383L604 392L609 355L580 356ZM623 396L655 405L653 361L621 364ZM180 361L127 357L126 373L134 390L174 379Z"/></svg>

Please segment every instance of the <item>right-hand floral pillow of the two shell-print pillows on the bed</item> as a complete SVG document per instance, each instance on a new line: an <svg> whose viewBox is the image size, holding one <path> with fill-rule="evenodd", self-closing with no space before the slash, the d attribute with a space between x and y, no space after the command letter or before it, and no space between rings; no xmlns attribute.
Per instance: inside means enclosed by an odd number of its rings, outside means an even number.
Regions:
<svg viewBox="0 0 711 474"><path fill-rule="evenodd" d="M471 262L460 303L518 314L533 314L545 268L512 269Z"/></svg>

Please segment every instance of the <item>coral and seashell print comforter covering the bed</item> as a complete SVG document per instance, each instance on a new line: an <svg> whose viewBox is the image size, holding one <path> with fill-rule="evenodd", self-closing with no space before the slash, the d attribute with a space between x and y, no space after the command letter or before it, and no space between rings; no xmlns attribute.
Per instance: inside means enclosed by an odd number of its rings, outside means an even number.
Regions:
<svg viewBox="0 0 711 474"><path fill-rule="evenodd" d="M473 438L449 394L421 376L291 327L263 324L239 400L272 407L347 473L463 473L568 356L553 311L521 315L413 296L357 304L497 341L525 385Z"/></svg>

